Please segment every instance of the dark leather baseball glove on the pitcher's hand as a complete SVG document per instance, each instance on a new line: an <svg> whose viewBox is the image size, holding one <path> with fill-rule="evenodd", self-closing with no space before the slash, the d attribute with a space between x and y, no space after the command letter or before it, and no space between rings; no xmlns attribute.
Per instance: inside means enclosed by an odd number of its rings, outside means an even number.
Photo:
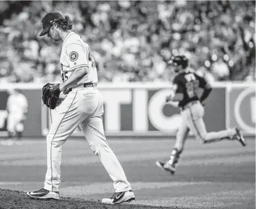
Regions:
<svg viewBox="0 0 256 209"><path fill-rule="evenodd" d="M59 95L59 83L46 83L46 85L42 87L42 101L50 109L56 108Z"/></svg>

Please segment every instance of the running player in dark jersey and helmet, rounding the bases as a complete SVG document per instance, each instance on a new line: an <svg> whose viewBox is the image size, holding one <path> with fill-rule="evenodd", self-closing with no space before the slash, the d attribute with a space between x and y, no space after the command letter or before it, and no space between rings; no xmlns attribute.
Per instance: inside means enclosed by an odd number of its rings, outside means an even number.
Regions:
<svg viewBox="0 0 256 209"><path fill-rule="evenodd" d="M238 140L242 146L246 146L246 141L237 127L219 132L206 131L205 122L203 121L205 113L203 103L211 92L210 84L204 78L187 69L188 59L184 55L172 56L168 64L174 66L174 72L177 75L173 79L173 94L168 96L166 101L178 103L182 122L177 131L171 159L166 163L157 161L157 166L172 175L175 174L176 163L179 161L181 152L183 152L189 131L203 144L222 140ZM203 94L200 98L198 98L199 88L203 88Z"/></svg>

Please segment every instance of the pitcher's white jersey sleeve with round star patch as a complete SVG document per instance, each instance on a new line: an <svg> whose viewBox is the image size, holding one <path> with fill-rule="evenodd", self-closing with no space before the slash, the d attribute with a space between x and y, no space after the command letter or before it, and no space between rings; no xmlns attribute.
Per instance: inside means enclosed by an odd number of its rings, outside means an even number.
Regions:
<svg viewBox="0 0 256 209"><path fill-rule="evenodd" d="M70 70L80 68L81 66L88 67L88 50L77 43L72 43L67 46L68 62Z"/></svg>

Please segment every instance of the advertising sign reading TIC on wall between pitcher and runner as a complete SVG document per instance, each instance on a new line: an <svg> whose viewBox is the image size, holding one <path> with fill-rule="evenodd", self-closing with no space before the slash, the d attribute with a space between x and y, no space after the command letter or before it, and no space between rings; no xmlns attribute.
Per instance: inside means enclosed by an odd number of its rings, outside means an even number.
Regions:
<svg viewBox="0 0 256 209"><path fill-rule="evenodd" d="M106 135L175 135L180 109L166 103L170 88L102 88ZM214 102L213 102L214 101ZM47 134L55 111L42 107L42 132ZM225 128L225 88L214 88L205 106L208 131ZM47 117L46 117L47 115ZM74 135L82 135L79 128Z"/></svg>

